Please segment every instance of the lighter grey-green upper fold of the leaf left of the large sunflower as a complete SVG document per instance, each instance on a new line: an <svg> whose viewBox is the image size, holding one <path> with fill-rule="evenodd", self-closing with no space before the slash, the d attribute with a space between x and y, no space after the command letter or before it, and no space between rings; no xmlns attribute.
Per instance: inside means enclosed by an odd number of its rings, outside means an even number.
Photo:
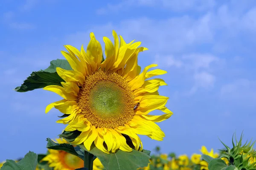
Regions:
<svg viewBox="0 0 256 170"><path fill-rule="evenodd" d="M67 59L56 59L56 60L52 60L50 62L50 66L47 69L44 69L44 70L41 70L41 71L54 73L54 72L56 72L57 67L63 68L65 70L73 70L71 68L70 64L67 62Z"/></svg>

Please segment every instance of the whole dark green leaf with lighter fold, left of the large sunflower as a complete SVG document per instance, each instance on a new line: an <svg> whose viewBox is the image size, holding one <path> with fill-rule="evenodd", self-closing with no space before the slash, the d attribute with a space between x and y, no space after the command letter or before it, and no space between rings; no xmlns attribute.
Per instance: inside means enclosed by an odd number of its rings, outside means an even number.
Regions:
<svg viewBox="0 0 256 170"><path fill-rule="evenodd" d="M14 90L17 92L32 91L38 88L44 88L47 85L61 85L64 80L59 77L56 72L56 68L64 68L66 70L71 70L69 63L65 59L56 59L50 62L50 66L41 71L32 72L32 74L27 77L23 84Z"/></svg>

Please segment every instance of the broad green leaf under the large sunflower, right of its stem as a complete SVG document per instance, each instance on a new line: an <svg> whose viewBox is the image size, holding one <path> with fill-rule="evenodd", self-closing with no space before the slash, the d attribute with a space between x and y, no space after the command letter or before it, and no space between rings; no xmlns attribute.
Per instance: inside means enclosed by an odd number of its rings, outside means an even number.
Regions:
<svg viewBox="0 0 256 170"><path fill-rule="evenodd" d="M146 153L132 150L132 152L124 152L122 150L117 150L116 153L103 153L94 145L91 146L90 151L88 151L84 145L80 147L97 156L106 170L136 170L139 167L147 167L149 163L149 158Z"/></svg>

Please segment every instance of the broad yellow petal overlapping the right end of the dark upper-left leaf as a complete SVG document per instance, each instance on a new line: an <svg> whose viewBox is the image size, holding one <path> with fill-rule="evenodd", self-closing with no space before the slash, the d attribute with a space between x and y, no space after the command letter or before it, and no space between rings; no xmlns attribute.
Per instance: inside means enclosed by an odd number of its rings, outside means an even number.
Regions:
<svg viewBox="0 0 256 170"><path fill-rule="evenodd" d="M58 75L65 80L65 82L77 82L80 86L84 84L84 75L78 71L65 70L60 67L57 67L56 71Z"/></svg>

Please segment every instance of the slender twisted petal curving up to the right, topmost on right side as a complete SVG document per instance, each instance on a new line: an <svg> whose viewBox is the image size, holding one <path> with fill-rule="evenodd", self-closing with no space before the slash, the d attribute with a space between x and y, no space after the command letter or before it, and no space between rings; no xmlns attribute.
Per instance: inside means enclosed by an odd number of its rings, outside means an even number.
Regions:
<svg viewBox="0 0 256 170"><path fill-rule="evenodd" d="M144 68L143 72L139 76L135 77L133 80L128 82L128 84L131 86L131 90L140 88L144 84L145 74L148 71L148 69L156 66L157 64L148 65L147 67Z"/></svg>

